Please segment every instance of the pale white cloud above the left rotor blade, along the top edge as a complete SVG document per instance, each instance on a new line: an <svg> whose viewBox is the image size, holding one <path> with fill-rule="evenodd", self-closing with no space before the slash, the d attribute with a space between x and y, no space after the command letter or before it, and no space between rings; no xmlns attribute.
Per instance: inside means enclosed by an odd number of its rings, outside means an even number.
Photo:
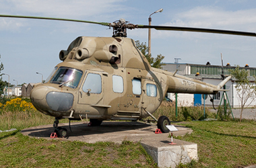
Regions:
<svg viewBox="0 0 256 168"><path fill-rule="evenodd" d="M4 0L0 3L1 13L44 15L51 17L89 17L118 11L122 0L56 1L56 0ZM15 12L15 13L14 13Z"/></svg>

